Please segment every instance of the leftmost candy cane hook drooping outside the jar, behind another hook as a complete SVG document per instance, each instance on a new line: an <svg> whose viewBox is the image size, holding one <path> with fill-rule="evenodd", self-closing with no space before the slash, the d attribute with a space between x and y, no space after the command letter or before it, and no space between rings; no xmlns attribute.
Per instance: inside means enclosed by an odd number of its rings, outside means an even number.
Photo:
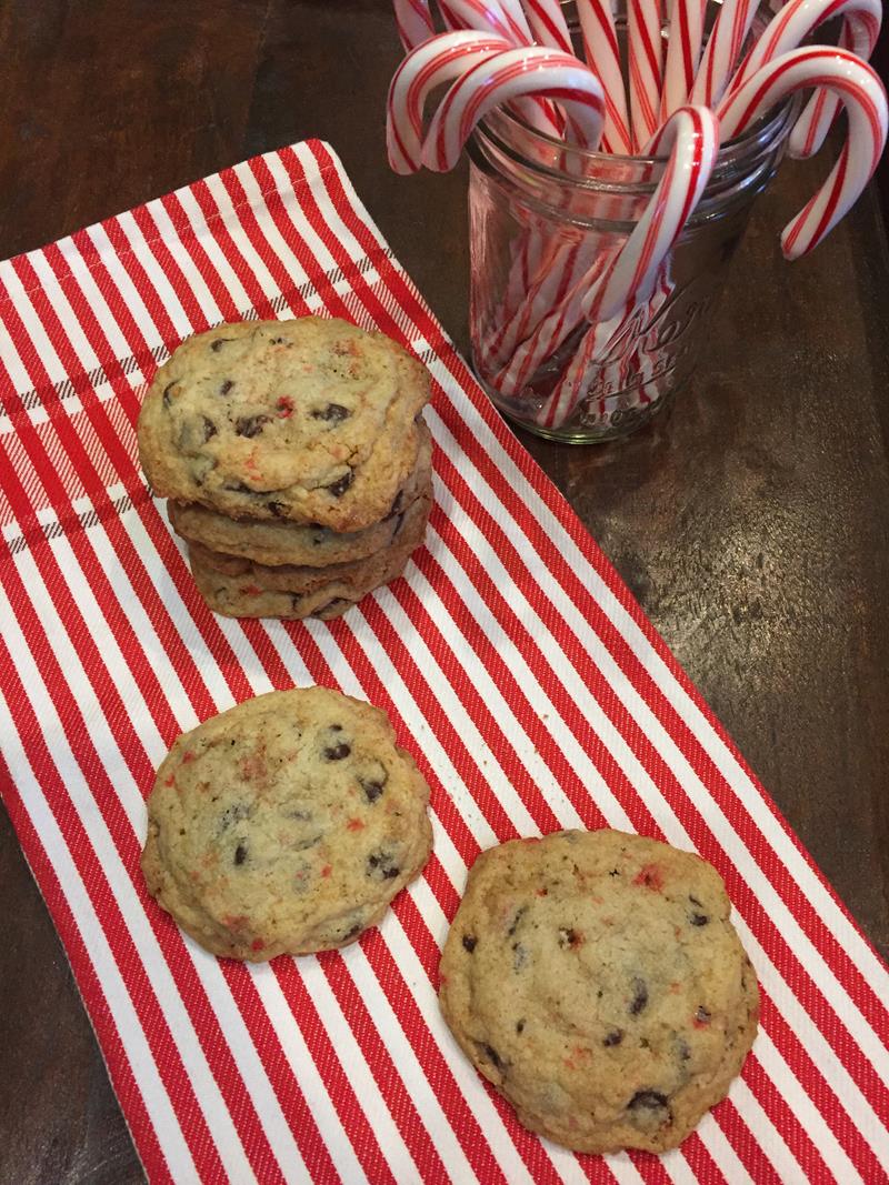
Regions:
<svg viewBox="0 0 889 1185"><path fill-rule="evenodd" d="M422 165L423 108L429 92L509 49L503 37L459 30L439 33L404 58L386 100L386 149L396 173L416 173Z"/></svg>

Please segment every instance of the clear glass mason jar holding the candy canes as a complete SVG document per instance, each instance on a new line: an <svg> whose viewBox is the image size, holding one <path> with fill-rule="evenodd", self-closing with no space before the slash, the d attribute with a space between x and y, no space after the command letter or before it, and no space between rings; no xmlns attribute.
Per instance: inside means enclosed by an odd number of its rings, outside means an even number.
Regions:
<svg viewBox="0 0 889 1185"><path fill-rule="evenodd" d="M625 316L594 327L595 339L567 294L582 292L629 237L665 161L568 147L504 109L478 126L469 143L469 326L475 373L505 416L586 443L628 435L669 402L695 369L727 265L797 110L786 101L721 149L653 289ZM565 313L564 324L535 345L552 309Z"/></svg>

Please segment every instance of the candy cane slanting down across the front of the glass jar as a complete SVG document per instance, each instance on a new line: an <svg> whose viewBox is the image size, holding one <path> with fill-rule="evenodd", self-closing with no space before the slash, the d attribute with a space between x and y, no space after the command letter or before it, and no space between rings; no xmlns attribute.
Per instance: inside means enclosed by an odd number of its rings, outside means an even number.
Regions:
<svg viewBox="0 0 889 1185"><path fill-rule="evenodd" d="M669 251L693 214L719 150L719 124L705 107L680 107L648 146L652 155L669 149L664 173L642 217L582 300L590 328L538 416L556 428L573 415L583 395L584 378L596 356L634 306L645 305L657 288Z"/></svg>

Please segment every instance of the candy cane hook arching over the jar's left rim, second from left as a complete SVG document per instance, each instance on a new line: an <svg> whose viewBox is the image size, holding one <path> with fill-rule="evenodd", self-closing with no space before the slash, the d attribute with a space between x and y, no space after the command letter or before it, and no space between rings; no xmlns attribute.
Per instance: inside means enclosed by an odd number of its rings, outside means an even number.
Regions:
<svg viewBox="0 0 889 1185"><path fill-rule="evenodd" d="M599 78L567 53L522 46L480 62L454 83L429 124L423 165L435 173L452 169L479 120L527 95L555 100L568 115L571 137L584 148L599 146L605 120Z"/></svg>

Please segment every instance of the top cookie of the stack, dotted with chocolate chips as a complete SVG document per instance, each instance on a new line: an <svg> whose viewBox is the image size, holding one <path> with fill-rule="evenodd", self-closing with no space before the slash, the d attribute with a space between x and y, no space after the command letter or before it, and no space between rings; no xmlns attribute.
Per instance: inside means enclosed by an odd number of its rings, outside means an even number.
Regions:
<svg viewBox="0 0 889 1185"><path fill-rule="evenodd" d="M359 531L416 468L429 376L346 321L244 321L190 338L152 382L139 454L159 497Z"/></svg>

